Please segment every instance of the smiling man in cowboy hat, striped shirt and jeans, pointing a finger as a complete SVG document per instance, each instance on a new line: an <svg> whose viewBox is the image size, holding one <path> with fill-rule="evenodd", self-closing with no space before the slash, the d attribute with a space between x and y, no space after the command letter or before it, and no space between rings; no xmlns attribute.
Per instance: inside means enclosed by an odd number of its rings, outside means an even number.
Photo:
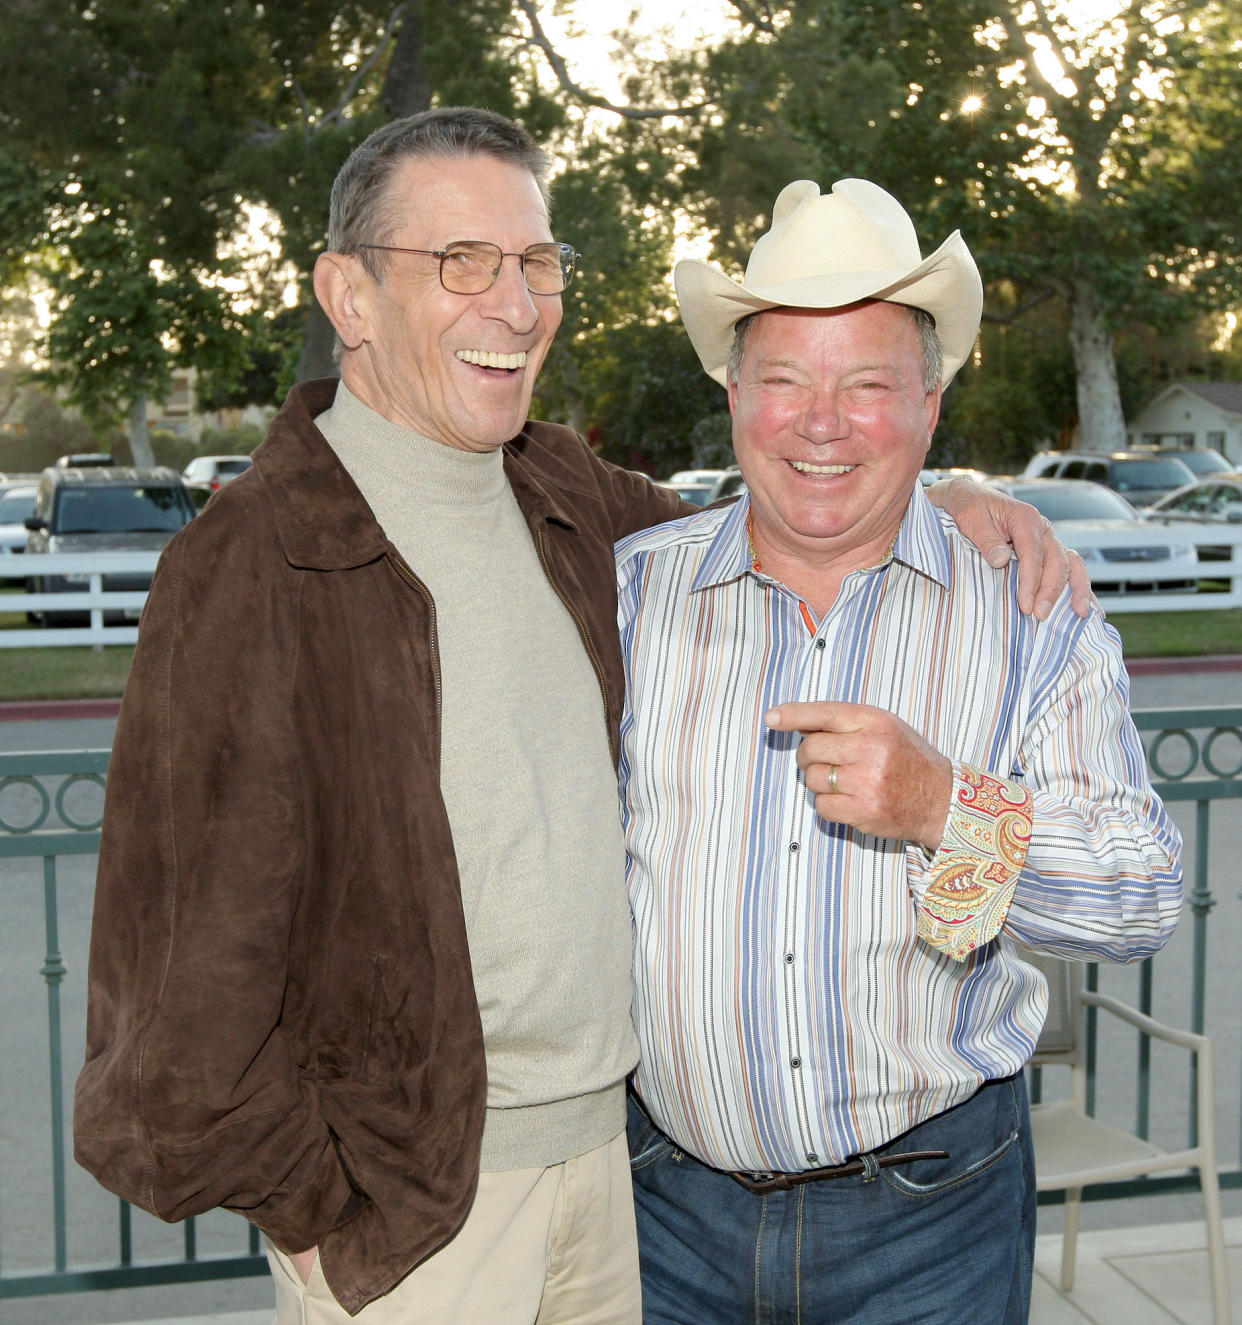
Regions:
<svg viewBox="0 0 1242 1325"><path fill-rule="evenodd" d="M961 235L799 180L742 282L676 286L749 494L618 545L644 1318L1023 1321L1014 943L1131 961L1180 904L1117 637L923 494Z"/></svg>

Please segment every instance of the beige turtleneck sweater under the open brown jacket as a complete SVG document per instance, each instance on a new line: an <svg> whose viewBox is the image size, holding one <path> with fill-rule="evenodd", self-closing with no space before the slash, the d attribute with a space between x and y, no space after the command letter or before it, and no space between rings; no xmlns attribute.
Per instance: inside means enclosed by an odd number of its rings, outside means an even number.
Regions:
<svg viewBox="0 0 1242 1325"><path fill-rule="evenodd" d="M638 1057L595 672L498 450L400 428L343 383L315 421L436 604L440 786L488 1059L482 1167L557 1163L622 1129Z"/></svg>

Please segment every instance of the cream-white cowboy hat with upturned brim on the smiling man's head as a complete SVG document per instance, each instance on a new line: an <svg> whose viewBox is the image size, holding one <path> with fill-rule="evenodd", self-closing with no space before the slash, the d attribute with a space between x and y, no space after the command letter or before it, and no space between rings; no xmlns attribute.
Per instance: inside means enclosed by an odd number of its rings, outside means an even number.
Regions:
<svg viewBox="0 0 1242 1325"><path fill-rule="evenodd" d="M763 309L839 309L859 299L925 309L944 350L942 386L970 356L984 313L984 282L961 231L923 257L905 208L866 179L839 179L831 193L809 179L786 184L741 282L687 260L673 269L673 285L691 343L721 386L734 325Z"/></svg>

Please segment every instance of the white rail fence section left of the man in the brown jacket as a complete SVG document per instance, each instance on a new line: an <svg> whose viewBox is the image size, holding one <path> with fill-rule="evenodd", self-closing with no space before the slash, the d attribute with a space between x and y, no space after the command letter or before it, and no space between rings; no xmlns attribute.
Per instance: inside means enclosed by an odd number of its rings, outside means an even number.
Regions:
<svg viewBox="0 0 1242 1325"><path fill-rule="evenodd" d="M138 639L138 617L147 600L146 590L103 587L105 575L147 575L155 570L159 553L33 553L0 558L0 587L16 579L17 594L0 594L3 612L90 613L89 625L49 624L44 628L0 631L0 648L42 648L57 644L133 644ZM81 588L62 594L30 594L30 579L50 576L85 578ZM105 613L115 624L105 624Z"/></svg>

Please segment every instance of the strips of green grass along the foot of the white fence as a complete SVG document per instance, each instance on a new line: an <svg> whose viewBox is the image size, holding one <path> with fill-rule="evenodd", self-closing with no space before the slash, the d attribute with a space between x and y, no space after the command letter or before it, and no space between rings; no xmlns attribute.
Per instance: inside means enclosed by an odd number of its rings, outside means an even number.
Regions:
<svg viewBox="0 0 1242 1325"><path fill-rule="evenodd" d="M1242 653L1242 608L1202 612L1109 615L1127 659L1202 657ZM0 612L0 631L25 619ZM98 700L119 697L133 648L0 648L0 702L5 700Z"/></svg>

